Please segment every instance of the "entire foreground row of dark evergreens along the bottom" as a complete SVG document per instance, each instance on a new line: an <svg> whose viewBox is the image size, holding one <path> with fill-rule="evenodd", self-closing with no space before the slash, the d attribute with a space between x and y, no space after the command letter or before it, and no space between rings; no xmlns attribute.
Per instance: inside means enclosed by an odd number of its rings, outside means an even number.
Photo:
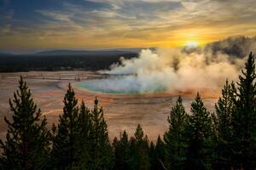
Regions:
<svg viewBox="0 0 256 170"><path fill-rule="evenodd" d="M204 170L256 168L256 83L253 54L239 81L224 84L213 112L197 94L187 113L178 97L167 118L169 128L156 143L138 124L130 138L124 131L111 143L102 107L78 103L69 84L63 113L49 130L20 77L9 99L11 119L0 141L1 169Z"/></svg>

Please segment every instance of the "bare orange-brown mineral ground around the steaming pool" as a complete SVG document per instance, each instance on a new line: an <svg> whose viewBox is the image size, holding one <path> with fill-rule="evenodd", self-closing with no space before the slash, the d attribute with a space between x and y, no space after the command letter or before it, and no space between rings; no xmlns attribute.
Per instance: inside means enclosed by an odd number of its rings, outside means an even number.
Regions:
<svg viewBox="0 0 256 170"><path fill-rule="evenodd" d="M12 98L18 86L20 75L32 90L32 96L44 115L47 116L49 127L57 122L62 111L62 99L67 90L68 82L72 82L79 101L84 99L85 104L91 109L93 100L97 96L104 109L104 116L108 123L110 138L119 136L126 130L132 135L137 123L143 125L144 133L149 139L155 140L159 134L163 134L168 126L166 118L171 111L172 105L177 99L175 94L101 94L91 93L84 89L76 88L75 79L82 80L102 77L91 71L31 71L19 73L0 73L0 138L3 139L7 126L3 122L3 116L11 116L9 111L9 98ZM218 91L202 91L207 108L212 110L218 99ZM183 104L187 111L195 92L183 93Z"/></svg>

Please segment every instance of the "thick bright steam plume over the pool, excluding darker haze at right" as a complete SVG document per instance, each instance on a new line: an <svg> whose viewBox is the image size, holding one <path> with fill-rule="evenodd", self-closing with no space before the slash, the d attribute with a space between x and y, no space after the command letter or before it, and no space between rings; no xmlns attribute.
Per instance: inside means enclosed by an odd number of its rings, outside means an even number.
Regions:
<svg viewBox="0 0 256 170"><path fill-rule="evenodd" d="M229 57L227 54L187 54L178 48L143 49L138 58L122 58L121 65L112 65L110 71L105 71L131 75L109 79L106 83L112 88L125 87L127 92L137 88L138 93L216 89L222 87L227 78L236 80L244 63L244 59L230 61Z"/></svg>

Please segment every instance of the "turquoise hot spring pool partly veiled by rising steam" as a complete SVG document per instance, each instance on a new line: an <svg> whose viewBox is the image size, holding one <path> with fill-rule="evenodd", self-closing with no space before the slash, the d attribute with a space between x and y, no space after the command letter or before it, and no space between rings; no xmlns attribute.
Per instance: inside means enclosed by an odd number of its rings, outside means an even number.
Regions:
<svg viewBox="0 0 256 170"><path fill-rule="evenodd" d="M93 79L77 82L76 86L91 92L108 94L152 94L166 91L166 86L144 83L135 75Z"/></svg>

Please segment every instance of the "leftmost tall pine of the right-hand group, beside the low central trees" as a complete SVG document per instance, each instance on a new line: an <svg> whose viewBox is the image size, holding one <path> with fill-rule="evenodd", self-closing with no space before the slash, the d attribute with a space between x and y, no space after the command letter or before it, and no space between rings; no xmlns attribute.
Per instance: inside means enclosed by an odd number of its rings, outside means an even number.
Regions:
<svg viewBox="0 0 256 170"><path fill-rule="evenodd" d="M183 107L179 96L176 105L168 116L169 129L164 134L166 143L166 167L168 169L183 169L186 160L186 137L185 127L189 116Z"/></svg>

